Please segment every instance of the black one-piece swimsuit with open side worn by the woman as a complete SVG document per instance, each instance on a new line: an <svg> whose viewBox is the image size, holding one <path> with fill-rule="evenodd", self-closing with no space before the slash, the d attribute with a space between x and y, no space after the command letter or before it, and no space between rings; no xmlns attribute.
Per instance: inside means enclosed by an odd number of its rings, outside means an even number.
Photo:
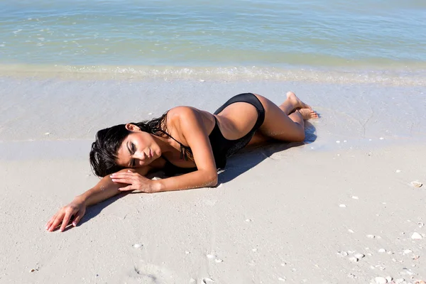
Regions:
<svg viewBox="0 0 426 284"><path fill-rule="evenodd" d="M212 151L214 155L214 161L216 162L216 168L224 168L226 165L226 158L228 158L230 155L236 153L241 148L244 148L253 138L254 133L256 130L258 130L259 127L263 124L263 121L265 120L265 109L263 108L262 103L259 101L259 99L251 93L245 93L245 94L237 94L234 97L231 97L222 107L219 107L217 111L214 111L214 114L219 114L221 111L223 111L226 107L228 107L230 104L234 104L236 102L246 102L248 104L253 105L253 107L256 108L256 111L258 112L258 119L256 120L256 124L254 124L253 129L249 131L246 135L243 137L236 139L236 140L228 140L224 138L222 135L222 132L219 129L219 125L217 124L216 116L214 116L215 124L214 129L212 130L212 133L209 134L209 141L212 145ZM168 133L166 133L170 138L173 138ZM182 145L179 141L177 141L175 138L173 138L176 142L180 144L180 158L184 160L188 160L189 158L192 158L192 151L191 148L185 145ZM164 158L164 156L162 156ZM190 173L197 168L180 168L176 165L173 165L173 163L170 163L166 158L165 160L165 168L164 171L167 175L173 175L177 173Z"/></svg>

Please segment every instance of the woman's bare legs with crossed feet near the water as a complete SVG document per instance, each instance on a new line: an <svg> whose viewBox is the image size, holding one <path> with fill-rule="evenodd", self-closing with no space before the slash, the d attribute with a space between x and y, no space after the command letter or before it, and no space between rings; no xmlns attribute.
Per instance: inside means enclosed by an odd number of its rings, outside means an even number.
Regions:
<svg viewBox="0 0 426 284"><path fill-rule="evenodd" d="M280 141L300 142L305 139L306 119L316 119L318 115L310 106L302 102L293 92L278 107L266 97L256 94L265 108L265 121L256 131L250 144L262 143L273 138Z"/></svg>

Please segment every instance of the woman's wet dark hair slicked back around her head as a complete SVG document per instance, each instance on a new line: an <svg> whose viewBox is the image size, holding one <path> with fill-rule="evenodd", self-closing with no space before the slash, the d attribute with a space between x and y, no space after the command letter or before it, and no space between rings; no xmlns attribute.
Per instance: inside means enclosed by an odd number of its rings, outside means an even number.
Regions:
<svg viewBox="0 0 426 284"><path fill-rule="evenodd" d="M166 134L166 119L167 112L157 119L150 121L141 121L133 123L138 126L141 131L148 132L155 136L164 136ZM132 131L126 129L126 124L119 124L116 126L102 129L96 133L96 141L92 143L92 148L89 153L90 165L92 171L98 177L103 178L111 173L116 173L124 169L117 165L116 159L118 158L117 152L123 143L124 139L129 136Z"/></svg>

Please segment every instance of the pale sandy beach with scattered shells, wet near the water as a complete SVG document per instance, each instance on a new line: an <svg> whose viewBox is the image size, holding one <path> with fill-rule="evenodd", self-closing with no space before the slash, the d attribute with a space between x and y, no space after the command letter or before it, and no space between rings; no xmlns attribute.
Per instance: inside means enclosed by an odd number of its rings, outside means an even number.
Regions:
<svg viewBox="0 0 426 284"><path fill-rule="evenodd" d="M0 86L1 283L426 280L426 190L410 185L426 183L418 87L8 78ZM213 111L239 92L279 102L289 89L322 116L306 145L237 155L217 188L122 196L90 207L75 229L45 231L97 182L87 161L97 129L176 104ZM364 257L351 261L356 253Z"/></svg>

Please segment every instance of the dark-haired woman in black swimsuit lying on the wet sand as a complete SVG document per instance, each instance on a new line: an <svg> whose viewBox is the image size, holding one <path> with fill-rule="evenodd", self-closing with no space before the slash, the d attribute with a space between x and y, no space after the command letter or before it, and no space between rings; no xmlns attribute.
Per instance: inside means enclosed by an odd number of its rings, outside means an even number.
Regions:
<svg viewBox="0 0 426 284"><path fill-rule="evenodd" d="M304 119L318 115L293 92L279 107L258 94L238 94L214 114L193 107L175 107L163 116L137 124L120 124L98 131L90 163L104 177L46 224L63 231L76 226L86 207L126 190L163 192L217 185L217 169L226 158L251 144L268 140L303 141ZM164 170L162 180L145 178Z"/></svg>

